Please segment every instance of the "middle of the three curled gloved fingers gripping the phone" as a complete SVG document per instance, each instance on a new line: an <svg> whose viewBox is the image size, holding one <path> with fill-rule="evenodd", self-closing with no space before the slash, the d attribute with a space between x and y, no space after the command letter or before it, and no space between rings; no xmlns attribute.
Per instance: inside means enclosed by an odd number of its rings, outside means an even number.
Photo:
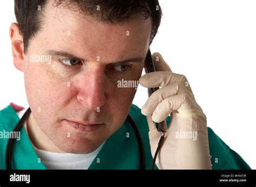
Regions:
<svg viewBox="0 0 256 187"><path fill-rule="evenodd" d="M178 94L187 94L191 98L194 98L193 93L188 91L186 87L180 83L173 83L166 87L160 88L153 92L152 95L147 99L146 103L142 107L142 114L145 116L151 115L156 107L165 99Z"/></svg>

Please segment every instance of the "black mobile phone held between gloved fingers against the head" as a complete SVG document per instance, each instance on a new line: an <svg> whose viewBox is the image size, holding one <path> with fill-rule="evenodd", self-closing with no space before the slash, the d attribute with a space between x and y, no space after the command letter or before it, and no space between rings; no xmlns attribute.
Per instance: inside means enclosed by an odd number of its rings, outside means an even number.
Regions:
<svg viewBox="0 0 256 187"><path fill-rule="evenodd" d="M156 71L156 69L154 68L154 62L152 60L152 55L151 55L150 49L147 52L144 67L145 67L146 74L150 73L150 72L153 72L153 71ZM154 91L157 91L158 89L159 89L159 87L147 89L147 92L149 93L149 97L151 96L151 94ZM160 123L156 123L156 125L157 125L157 130L163 132L163 131L165 131L164 127L166 127L166 120L161 121Z"/></svg>

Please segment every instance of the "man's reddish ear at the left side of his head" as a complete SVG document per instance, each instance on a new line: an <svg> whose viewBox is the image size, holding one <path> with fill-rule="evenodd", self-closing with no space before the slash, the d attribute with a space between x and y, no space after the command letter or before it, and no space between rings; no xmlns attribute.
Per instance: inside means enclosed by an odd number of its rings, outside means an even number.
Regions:
<svg viewBox="0 0 256 187"><path fill-rule="evenodd" d="M24 63L24 45L23 37L19 26L16 23L12 23L9 30L11 47L12 47L12 57L14 59L14 66L23 71Z"/></svg>

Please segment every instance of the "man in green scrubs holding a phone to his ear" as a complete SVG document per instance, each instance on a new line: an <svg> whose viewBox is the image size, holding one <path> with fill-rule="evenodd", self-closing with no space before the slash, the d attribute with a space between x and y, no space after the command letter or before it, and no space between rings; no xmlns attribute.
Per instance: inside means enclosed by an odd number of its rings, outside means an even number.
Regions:
<svg viewBox="0 0 256 187"><path fill-rule="evenodd" d="M12 54L31 113L12 148L12 168L139 169L130 113L146 169L163 134L155 169L250 169L207 129L186 77L172 73L159 53L152 55L157 72L140 77L160 25L158 1L16 0L15 14ZM161 88L140 111L131 104L136 89L120 88L121 80ZM19 110L12 104L1 111L1 131L14 130ZM158 132L154 122L166 118L165 133ZM1 141L5 169L8 140Z"/></svg>

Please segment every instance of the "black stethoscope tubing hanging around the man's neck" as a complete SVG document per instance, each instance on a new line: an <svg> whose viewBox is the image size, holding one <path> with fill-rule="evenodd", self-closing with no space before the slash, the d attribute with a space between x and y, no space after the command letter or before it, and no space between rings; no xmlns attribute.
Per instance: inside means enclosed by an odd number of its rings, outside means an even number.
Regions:
<svg viewBox="0 0 256 187"><path fill-rule="evenodd" d="M24 113L22 116L21 120L19 120L18 124L14 128L14 132L21 131L21 128L23 127L23 124L25 123L26 119L29 118L29 114L31 113L30 108ZM144 146L142 142L142 136L140 136L139 129L132 119L131 115L128 114L126 120L131 124L133 131L136 135L137 142L138 142L138 147L139 147L139 160L140 160L140 167L139 169L145 169L145 153L144 153ZM12 145L14 143L14 139L9 139L7 146L6 146L6 153L5 153L5 166L6 169L11 170L11 150L12 150Z"/></svg>

